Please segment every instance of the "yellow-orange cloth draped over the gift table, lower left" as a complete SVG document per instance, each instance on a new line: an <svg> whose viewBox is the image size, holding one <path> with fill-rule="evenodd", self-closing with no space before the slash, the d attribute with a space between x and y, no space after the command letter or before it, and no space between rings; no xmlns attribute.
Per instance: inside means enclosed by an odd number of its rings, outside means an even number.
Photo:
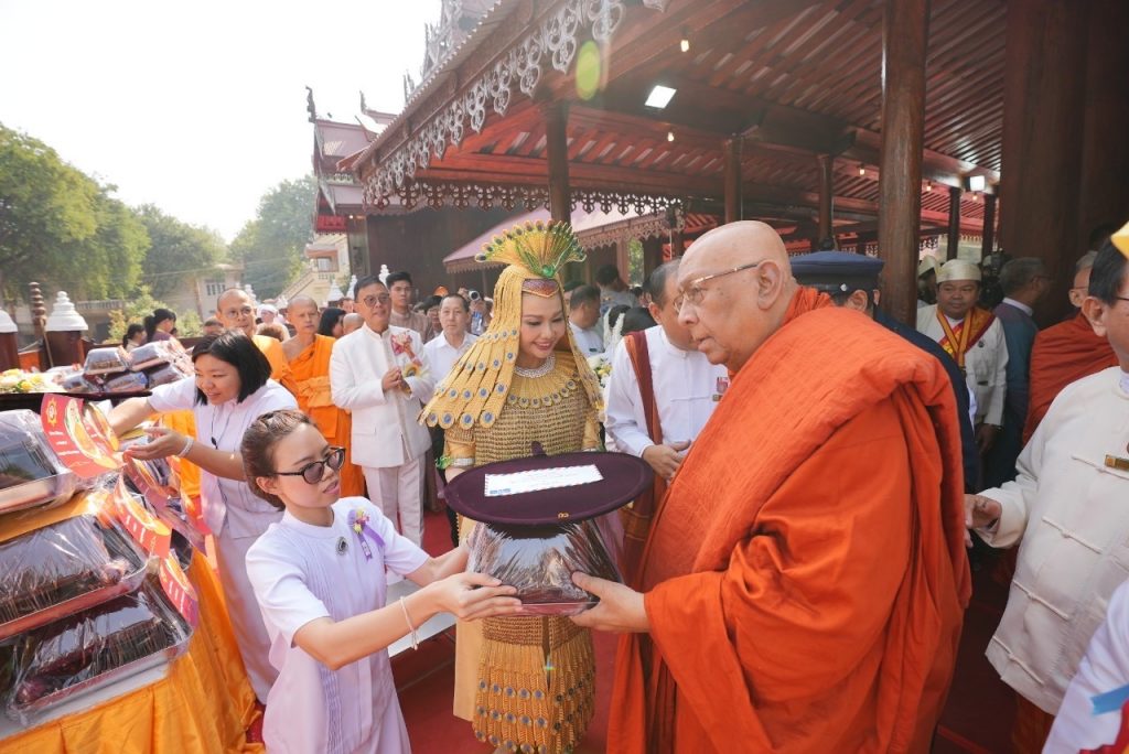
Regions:
<svg viewBox="0 0 1129 754"><path fill-rule="evenodd" d="M263 752L246 730L259 712L219 584L199 553L189 578L200 625L160 681L0 742L0 752L216 754Z"/></svg>

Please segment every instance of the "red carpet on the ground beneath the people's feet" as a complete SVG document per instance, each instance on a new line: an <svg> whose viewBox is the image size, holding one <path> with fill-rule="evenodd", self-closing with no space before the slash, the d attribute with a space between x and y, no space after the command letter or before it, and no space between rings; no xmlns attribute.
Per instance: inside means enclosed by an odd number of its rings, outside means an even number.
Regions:
<svg viewBox="0 0 1129 754"><path fill-rule="evenodd" d="M425 549L438 554L450 547L447 520L428 514ZM992 580L991 564L973 573L972 605L965 614L961 650L942 717L934 754L1006 754L1015 702L984 658L984 648L999 623L1007 599L1006 587ZM612 665L616 638L596 634L596 714L578 754L605 751L607 712L611 705ZM492 747L479 744L471 726L450 713L455 682L454 631L423 642L418 651L406 651L392 661L400 705L408 724L412 751L417 754L489 754Z"/></svg>

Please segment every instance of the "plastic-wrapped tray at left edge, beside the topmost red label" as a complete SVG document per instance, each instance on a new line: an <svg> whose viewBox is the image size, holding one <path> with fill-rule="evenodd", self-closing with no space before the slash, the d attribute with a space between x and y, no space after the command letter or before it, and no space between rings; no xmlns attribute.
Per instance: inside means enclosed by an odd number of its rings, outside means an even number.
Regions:
<svg viewBox="0 0 1129 754"><path fill-rule="evenodd" d="M68 500L76 486L34 411L0 413L0 514Z"/></svg>

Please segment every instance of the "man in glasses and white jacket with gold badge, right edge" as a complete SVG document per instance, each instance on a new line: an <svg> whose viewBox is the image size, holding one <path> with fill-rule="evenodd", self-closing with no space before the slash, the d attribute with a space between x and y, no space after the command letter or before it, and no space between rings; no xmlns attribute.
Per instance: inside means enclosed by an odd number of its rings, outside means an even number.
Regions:
<svg viewBox="0 0 1129 754"><path fill-rule="evenodd" d="M1021 751L1039 751L1110 596L1129 576L1129 260L1099 252L1083 313L1119 366L1068 385L1023 449L1018 476L968 496L988 544L1019 544L988 659L1018 694Z"/></svg>

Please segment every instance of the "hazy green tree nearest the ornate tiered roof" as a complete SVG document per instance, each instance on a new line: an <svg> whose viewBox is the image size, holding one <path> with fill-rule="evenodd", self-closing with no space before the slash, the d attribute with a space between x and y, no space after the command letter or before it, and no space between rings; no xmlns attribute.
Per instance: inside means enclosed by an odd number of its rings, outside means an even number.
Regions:
<svg viewBox="0 0 1129 754"><path fill-rule="evenodd" d="M259 202L255 219L231 242L230 257L243 263L243 282L259 298L278 296L301 266L301 253L314 235L317 182L307 175L283 181Z"/></svg>

